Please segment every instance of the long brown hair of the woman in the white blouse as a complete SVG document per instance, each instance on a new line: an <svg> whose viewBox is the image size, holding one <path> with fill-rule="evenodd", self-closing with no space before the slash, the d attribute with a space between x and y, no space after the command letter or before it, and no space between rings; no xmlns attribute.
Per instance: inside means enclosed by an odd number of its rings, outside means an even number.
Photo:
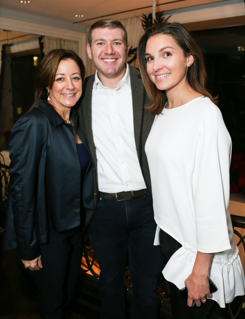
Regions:
<svg viewBox="0 0 245 319"><path fill-rule="evenodd" d="M206 70L204 59L197 42L182 24L178 22L168 22L147 29L138 43L137 57L139 69L143 84L152 101L152 103L150 103L148 106L149 111L153 114L160 114L162 112L163 106L167 103L165 91L160 91L157 89L156 85L150 80L150 77L146 71L146 42L152 36L159 34L171 35L178 46L182 48L186 57L189 55L194 57L194 62L187 71L188 82L195 91L210 98L213 103L217 103L217 97L213 98L206 90Z"/></svg>

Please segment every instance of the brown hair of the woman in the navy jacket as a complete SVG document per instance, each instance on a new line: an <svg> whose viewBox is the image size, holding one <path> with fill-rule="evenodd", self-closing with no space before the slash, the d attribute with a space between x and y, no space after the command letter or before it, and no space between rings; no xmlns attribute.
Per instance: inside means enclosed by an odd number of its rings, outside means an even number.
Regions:
<svg viewBox="0 0 245 319"><path fill-rule="evenodd" d="M67 59L72 59L77 63L80 69L83 89L86 70L82 59L72 50L54 49L42 58L37 67L34 80L34 102L28 112L34 108L39 99L47 100L48 91L46 87L53 87L58 65L61 60Z"/></svg>

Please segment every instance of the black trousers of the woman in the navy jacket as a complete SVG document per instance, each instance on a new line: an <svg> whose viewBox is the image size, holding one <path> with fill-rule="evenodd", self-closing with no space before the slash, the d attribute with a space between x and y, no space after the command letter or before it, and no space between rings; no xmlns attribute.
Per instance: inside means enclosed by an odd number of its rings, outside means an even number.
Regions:
<svg viewBox="0 0 245 319"><path fill-rule="evenodd" d="M41 319L63 319L81 267L83 234L80 227L50 231L49 243L40 245L43 268L32 271L38 288Z"/></svg>

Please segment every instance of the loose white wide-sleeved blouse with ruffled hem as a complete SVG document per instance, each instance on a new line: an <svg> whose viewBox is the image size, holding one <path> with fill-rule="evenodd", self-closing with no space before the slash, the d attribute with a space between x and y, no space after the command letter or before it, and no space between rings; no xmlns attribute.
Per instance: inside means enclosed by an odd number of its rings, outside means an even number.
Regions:
<svg viewBox="0 0 245 319"><path fill-rule="evenodd" d="M219 108L207 97L156 115L145 145L159 229L178 249L163 270L179 289L192 272L197 251L214 253L209 277L221 307L244 294L245 278L235 246L229 203L231 138Z"/></svg>

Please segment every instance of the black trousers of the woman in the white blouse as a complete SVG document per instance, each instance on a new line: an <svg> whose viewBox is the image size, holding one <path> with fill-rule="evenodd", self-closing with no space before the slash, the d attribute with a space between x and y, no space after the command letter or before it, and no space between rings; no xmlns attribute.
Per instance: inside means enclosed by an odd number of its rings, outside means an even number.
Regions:
<svg viewBox="0 0 245 319"><path fill-rule="evenodd" d="M165 233L162 229L159 233L159 241L162 254L166 262L169 261L171 256L182 247L169 234ZM173 319L217 319L218 303L214 300L207 299L206 303L202 303L200 307L194 305L193 307L187 306L185 302L176 294L179 290L177 286L169 282L170 300Z"/></svg>

